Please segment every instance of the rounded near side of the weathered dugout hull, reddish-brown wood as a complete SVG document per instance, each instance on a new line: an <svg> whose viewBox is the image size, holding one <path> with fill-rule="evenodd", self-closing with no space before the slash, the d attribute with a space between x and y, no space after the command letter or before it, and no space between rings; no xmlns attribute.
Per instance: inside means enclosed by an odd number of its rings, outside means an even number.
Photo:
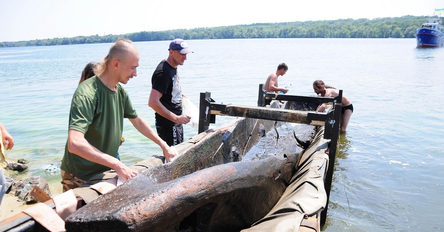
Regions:
<svg viewBox="0 0 444 232"><path fill-rule="evenodd" d="M270 166L271 162L275 165ZM277 157L228 163L158 185L138 175L79 209L67 220L66 229L154 232L189 226L202 231L240 231L274 206L294 165L295 159Z"/></svg>

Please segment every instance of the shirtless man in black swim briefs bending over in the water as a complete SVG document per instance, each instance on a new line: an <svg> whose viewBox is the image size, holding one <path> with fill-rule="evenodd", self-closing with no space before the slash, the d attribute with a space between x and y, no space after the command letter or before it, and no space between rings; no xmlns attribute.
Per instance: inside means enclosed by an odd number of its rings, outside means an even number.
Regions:
<svg viewBox="0 0 444 232"><path fill-rule="evenodd" d="M332 86L326 86L324 81L315 80L313 82L313 89L316 94L321 94L321 97L337 97L339 95L339 90L333 88ZM339 122L341 126L341 133L344 133L347 129L348 121L353 113L353 105L345 94L342 94L342 108L341 108L341 120ZM317 112L325 111L327 107L326 104L319 105Z"/></svg>

